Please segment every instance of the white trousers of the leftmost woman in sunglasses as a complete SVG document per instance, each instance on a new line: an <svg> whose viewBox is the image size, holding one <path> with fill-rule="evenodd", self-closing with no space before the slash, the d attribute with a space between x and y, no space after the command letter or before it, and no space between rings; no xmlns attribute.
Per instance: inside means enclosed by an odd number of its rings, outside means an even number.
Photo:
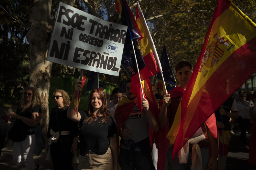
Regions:
<svg viewBox="0 0 256 170"><path fill-rule="evenodd" d="M14 142L13 160L26 165L26 170L34 170L34 150L36 148L36 134L27 135L21 142Z"/></svg>

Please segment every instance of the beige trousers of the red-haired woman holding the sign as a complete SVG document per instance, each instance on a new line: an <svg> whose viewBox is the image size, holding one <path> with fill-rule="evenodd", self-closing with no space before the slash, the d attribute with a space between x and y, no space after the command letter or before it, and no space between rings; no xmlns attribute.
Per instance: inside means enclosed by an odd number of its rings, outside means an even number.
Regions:
<svg viewBox="0 0 256 170"><path fill-rule="evenodd" d="M111 170L113 166L110 148L103 155L98 155L93 151L87 151L86 155L79 155L78 170L99 169Z"/></svg>

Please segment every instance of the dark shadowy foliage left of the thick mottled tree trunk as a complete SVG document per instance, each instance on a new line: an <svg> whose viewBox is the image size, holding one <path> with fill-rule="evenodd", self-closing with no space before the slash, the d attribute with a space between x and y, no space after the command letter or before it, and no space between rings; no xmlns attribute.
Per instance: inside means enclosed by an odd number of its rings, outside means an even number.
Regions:
<svg viewBox="0 0 256 170"><path fill-rule="evenodd" d="M29 45L24 40L28 29L28 2L6 0L0 5L0 96L3 103L13 101L11 97L18 93L18 82L27 83Z"/></svg>

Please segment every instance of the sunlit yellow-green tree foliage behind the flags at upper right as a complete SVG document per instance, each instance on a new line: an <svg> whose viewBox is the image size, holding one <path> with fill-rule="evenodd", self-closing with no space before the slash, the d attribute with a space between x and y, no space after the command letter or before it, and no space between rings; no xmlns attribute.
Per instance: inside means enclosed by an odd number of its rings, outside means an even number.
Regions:
<svg viewBox="0 0 256 170"><path fill-rule="evenodd" d="M252 21L256 21L256 1L232 1ZM216 1L150 1L139 2L151 26L158 55L166 46L173 68L186 60L194 66L213 16ZM135 8L133 11L135 12Z"/></svg>

